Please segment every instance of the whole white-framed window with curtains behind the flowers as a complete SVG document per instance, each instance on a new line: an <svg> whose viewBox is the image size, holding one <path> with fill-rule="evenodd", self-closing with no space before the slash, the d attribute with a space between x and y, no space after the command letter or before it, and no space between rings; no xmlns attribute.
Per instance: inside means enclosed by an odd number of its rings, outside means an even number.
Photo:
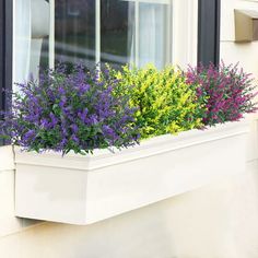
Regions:
<svg viewBox="0 0 258 258"><path fill-rule="evenodd" d="M164 67L172 61L171 1L15 0L14 81L58 61Z"/></svg>

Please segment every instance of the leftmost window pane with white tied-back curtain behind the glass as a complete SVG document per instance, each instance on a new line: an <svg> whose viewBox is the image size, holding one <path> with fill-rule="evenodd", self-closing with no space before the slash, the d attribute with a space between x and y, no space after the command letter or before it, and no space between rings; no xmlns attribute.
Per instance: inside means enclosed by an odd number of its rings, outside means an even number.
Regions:
<svg viewBox="0 0 258 258"><path fill-rule="evenodd" d="M23 82L31 73L37 77L42 60L48 62L48 54L43 55L42 46L49 35L49 2L16 0L14 7L13 80Z"/></svg>

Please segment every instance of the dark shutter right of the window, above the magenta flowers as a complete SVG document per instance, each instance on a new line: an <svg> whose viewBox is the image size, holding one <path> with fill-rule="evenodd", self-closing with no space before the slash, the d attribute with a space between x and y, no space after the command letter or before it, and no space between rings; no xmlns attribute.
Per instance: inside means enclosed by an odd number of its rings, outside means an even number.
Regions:
<svg viewBox="0 0 258 258"><path fill-rule="evenodd" d="M199 0L198 63L220 62L221 0Z"/></svg>

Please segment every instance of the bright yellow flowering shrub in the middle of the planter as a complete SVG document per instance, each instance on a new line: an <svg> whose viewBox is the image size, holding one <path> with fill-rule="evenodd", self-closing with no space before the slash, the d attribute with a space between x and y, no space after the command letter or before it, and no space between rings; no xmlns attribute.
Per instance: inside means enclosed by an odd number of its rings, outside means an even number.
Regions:
<svg viewBox="0 0 258 258"><path fill-rule="evenodd" d="M126 66L113 72L124 94L129 94L131 107L138 108L136 121L141 139L202 127L203 104L179 69L168 66L160 71L151 64L142 69Z"/></svg>

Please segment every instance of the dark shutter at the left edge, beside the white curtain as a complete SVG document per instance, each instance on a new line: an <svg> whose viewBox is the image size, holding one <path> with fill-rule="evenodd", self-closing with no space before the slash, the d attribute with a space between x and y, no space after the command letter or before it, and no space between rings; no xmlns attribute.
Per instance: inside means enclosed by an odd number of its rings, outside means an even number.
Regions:
<svg viewBox="0 0 258 258"><path fill-rule="evenodd" d="M3 90L12 89L12 42L13 42L12 2L13 0L0 0L0 109L1 110L7 109L7 99Z"/></svg>

